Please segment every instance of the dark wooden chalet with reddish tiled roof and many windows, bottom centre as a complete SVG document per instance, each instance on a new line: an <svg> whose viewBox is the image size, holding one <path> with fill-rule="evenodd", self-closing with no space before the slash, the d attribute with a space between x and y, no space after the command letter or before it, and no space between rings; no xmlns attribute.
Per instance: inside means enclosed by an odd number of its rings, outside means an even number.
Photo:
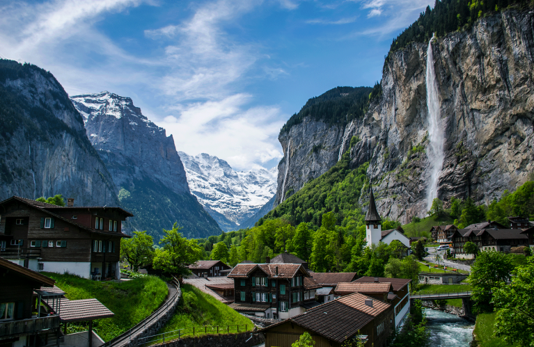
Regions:
<svg viewBox="0 0 534 347"><path fill-rule="evenodd" d="M238 312L286 319L319 305L320 285L302 264L237 264L228 277L235 289L230 307Z"/></svg>

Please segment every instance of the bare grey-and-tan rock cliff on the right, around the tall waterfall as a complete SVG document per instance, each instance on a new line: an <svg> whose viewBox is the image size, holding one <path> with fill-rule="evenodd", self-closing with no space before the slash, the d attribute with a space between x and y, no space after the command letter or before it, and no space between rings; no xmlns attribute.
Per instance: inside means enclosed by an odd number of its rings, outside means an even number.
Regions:
<svg viewBox="0 0 534 347"><path fill-rule="evenodd" d="M488 203L523 184L533 171L533 28L532 10L509 9L432 42L445 135L438 197L446 203L452 196ZM425 216L430 176L426 58L427 43L390 52L382 94L363 118L345 127L308 118L281 132L285 156L278 166L277 193L297 191L351 147L354 167L370 161L368 176L382 216L402 223ZM352 136L359 142L347 146ZM364 192L361 203L367 199Z"/></svg>

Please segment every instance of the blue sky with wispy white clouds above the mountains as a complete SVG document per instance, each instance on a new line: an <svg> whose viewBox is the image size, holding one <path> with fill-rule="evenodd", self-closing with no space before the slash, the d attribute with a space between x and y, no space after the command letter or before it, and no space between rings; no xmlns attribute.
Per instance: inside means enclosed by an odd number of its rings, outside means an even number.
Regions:
<svg viewBox="0 0 534 347"><path fill-rule="evenodd" d="M272 168L311 97L382 78L391 41L434 0L0 0L0 58L69 95L131 97L176 149Z"/></svg>

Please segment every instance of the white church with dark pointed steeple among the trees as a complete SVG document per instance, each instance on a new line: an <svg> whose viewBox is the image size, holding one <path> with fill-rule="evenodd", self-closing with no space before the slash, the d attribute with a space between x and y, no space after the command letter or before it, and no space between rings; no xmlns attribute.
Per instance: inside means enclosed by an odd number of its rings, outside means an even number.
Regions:
<svg viewBox="0 0 534 347"><path fill-rule="evenodd" d="M373 195L371 187L369 209L366 214L366 241L368 247L372 244L378 245L380 241L389 245L391 241L398 240L408 249L410 248L410 239L404 234L402 228L382 230L381 222L382 218L378 214L375 195Z"/></svg>

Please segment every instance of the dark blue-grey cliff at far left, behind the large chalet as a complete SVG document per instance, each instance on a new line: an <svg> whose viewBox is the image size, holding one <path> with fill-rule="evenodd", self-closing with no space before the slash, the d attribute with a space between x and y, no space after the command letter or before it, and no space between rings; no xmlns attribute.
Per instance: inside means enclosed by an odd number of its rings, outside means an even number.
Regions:
<svg viewBox="0 0 534 347"><path fill-rule="evenodd" d="M54 76L0 60L0 199L62 194L77 205L118 206L113 179Z"/></svg>

